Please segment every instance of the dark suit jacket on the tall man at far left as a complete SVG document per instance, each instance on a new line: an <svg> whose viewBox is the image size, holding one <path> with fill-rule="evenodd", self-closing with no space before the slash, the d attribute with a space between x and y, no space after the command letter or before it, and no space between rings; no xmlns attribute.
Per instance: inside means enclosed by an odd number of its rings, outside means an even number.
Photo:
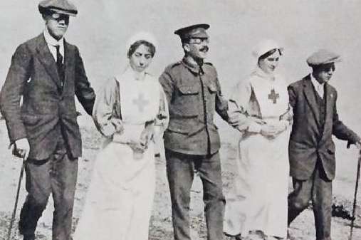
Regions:
<svg viewBox="0 0 361 240"><path fill-rule="evenodd" d="M95 93L85 75L78 48L65 42L64 52L63 86L56 61L41 33L16 48L1 89L0 109L10 141L27 138L32 159L43 160L51 155L61 135L68 142L71 155L81 155L74 96L91 114Z"/></svg>

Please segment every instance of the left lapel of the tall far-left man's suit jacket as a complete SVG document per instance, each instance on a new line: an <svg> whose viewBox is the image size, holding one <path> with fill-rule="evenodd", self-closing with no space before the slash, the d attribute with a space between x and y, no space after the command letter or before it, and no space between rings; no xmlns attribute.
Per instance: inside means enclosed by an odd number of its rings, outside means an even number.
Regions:
<svg viewBox="0 0 361 240"><path fill-rule="evenodd" d="M58 75L58 69L56 68L56 61L54 60L53 55L48 48L48 44L45 41L43 33L38 36L38 46L36 48L36 51L39 55L38 60L46 68L46 71L49 75L51 75L54 83L58 85L58 88L61 88L61 80Z"/></svg>

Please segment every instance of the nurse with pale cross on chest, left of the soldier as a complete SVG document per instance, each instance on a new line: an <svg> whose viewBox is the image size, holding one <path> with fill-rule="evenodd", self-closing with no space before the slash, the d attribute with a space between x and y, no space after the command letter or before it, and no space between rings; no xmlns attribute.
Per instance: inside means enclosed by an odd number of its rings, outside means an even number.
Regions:
<svg viewBox="0 0 361 240"><path fill-rule="evenodd" d="M98 93L93 118L105 137L75 240L147 240L155 194L155 142L167 127L167 101L147 73L155 38L138 33L129 65ZM157 151L158 152L158 151Z"/></svg>

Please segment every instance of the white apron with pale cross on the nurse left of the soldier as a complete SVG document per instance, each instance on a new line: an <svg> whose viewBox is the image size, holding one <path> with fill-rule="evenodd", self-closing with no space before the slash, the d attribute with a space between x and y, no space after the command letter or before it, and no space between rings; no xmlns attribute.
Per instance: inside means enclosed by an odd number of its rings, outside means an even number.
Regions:
<svg viewBox="0 0 361 240"><path fill-rule="evenodd" d="M117 80L125 129L122 137L125 140L137 139L145 122L156 118L160 85L149 75L144 80L134 80L129 70ZM101 108L101 105L97 107ZM152 142L142 155L134 155L126 144L112 140L104 142L95 162L74 240L148 239L155 194L154 155Z"/></svg>

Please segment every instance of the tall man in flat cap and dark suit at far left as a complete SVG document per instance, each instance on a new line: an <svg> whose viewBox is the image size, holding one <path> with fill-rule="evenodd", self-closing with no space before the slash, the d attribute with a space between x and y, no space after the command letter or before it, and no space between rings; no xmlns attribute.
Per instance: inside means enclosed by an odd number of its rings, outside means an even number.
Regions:
<svg viewBox="0 0 361 240"><path fill-rule="evenodd" d="M52 193L53 239L70 240L81 155L74 97L91 115L95 93L78 48L63 38L69 16L78 13L75 6L67 0L45 0L38 10L45 29L16 48L0 108L14 155L26 160L28 196L21 209L20 234L35 239L36 224Z"/></svg>

